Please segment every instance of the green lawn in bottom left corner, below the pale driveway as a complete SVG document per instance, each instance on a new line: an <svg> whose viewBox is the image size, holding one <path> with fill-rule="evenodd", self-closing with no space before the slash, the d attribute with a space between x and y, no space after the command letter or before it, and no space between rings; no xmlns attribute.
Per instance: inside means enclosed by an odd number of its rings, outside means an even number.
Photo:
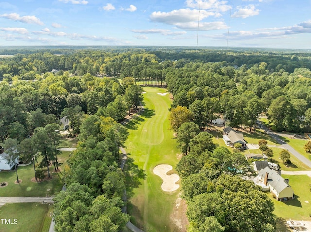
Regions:
<svg viewBox="0 0 311 232"><path fill-rule="evenodd" d="M0 218L17 219L17 224L0 225L0 232L48 232L52 205L41 203L7 203L0 208Z"/></svg>

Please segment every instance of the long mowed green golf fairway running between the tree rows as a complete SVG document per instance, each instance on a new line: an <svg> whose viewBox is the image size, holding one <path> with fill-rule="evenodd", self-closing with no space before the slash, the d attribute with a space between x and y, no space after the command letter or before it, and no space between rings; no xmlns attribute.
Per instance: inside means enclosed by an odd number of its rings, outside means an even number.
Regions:
<svg viewBox="0 0 311 232"><path fill-rule="evenodd" d="M173 170L169 174L176 173L179 150L173 132L169 130L171 100L169 94L158 94L165 93L166 89L145 87L144 91L145 110L128 124L129 137L125 144L129 158L125 167L128 213L133 224L145 231L179 231L171 214L176 210L175 201L180 189L162 191L162 179L153 173L158 164L172 165Z"/></svg>

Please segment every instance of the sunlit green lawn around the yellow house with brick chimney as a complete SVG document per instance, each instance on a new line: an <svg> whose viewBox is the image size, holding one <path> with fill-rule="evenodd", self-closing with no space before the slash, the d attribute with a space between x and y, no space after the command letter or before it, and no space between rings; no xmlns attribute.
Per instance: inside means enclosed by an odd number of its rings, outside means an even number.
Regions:
<svg viewBox="0 0 311 232"><path fill-rule="evenodd" d="M307 175L290 176L282 175L283 178L289 179L289 184L293 188L296 195L295 199L282 202L277 201L272 197L271 193L267 192L267 195L274 202L275 210L273 213L277 217L282 217L285 220L304 220L310 221L309 214L311 213L311 194L309 190L309 184L311 179ZM307 203L309 202L309 203Z"/></svg>

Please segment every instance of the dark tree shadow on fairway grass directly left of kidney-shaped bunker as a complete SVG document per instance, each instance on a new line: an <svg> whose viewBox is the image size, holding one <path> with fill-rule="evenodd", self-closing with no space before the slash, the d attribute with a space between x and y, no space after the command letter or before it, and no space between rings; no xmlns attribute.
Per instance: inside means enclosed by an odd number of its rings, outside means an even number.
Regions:
<svg viewBox="0 0 311 232"><path fill-rule="evenodd" d="M134 164L134 159L129 157L126 160L123 170L126 181L126 193L128 198L130 198L134 194L133 189L138 188L141 185L142 180L144 180L147 175L143 169Z"/></svg>

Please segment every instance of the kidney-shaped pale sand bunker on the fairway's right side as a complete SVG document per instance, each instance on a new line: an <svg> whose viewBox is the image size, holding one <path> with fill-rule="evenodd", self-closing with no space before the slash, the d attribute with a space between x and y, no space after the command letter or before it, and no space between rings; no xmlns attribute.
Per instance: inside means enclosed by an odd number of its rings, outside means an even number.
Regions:
<svg viewBox="0 0 311 232"><path fill-rule="evenodd" d="M173 192L179 188L179 185L176 182L179 180L179 176L177 174L167 175L166 173L172 170L173 167L168 164L160 164L155 166L154 174L158 175L162 178L163 183L161 188L165 192Z"/></svg>

